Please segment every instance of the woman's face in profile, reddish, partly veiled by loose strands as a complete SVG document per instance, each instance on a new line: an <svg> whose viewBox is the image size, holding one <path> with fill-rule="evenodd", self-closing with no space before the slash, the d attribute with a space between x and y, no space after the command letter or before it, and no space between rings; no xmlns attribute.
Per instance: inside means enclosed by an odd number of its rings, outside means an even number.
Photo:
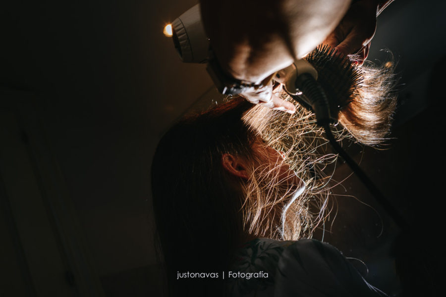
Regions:
<svg viewBox="0 0 446 297"><path fill-rule="evenodd" d="M296 187L296 190L299 190L299 192L305 189L304 181L285 162L284 153L266 146L262 141L254 142L252 148L260 159L261 166L268 170L268 175L271 178L275 178L281 185Z"/></svg>

